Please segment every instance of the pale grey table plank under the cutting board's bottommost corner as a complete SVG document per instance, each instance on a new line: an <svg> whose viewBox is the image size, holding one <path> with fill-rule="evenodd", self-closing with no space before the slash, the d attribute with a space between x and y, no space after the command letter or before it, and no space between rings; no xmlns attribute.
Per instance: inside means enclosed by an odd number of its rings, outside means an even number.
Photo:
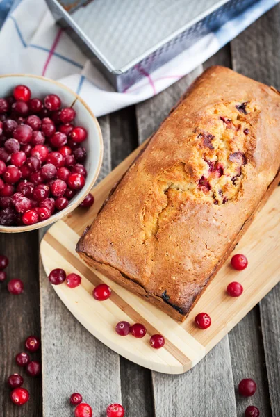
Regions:
<svg viewBox="0 0 280 417"><path fill-rule="evenodd" d="M149 101L136 106L140 142L150 136L176 104L201 67ZM195 368L183 375L152 373L157 417L236 416L227 336ZM215 384L211 382L215 381ZM199 387L203 387L199 389ZM211 392L209 391L211 390ZM207 395L206 395L207 391ZM227 393L227 401L223 401Z"/></svg>

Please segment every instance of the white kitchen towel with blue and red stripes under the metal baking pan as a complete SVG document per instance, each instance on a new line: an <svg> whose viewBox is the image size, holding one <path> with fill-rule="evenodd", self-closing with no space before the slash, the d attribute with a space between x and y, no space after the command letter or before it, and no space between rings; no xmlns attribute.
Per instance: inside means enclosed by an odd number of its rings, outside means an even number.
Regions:
<svg viewBox="0 0 280 417"><path fill-rule="evenodd" d="M127 89L115 92L79 47L56 26L44 0L15 0L0 31L0 73L56 79L76 91L97 116L148 99L215 54L280 0L259 0ZM0 0L0 22L11 0Z"/></svg>

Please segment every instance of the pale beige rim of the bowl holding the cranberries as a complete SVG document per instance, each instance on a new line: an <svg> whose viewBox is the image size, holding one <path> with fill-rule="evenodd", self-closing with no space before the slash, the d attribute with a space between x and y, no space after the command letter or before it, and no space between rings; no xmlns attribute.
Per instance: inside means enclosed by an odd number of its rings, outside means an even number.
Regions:
<svg viewBox="0 0 280 417"><path fill-rule="evenodd" d="M38 222L38 223L35 223L35 224L24 225L24 226L2 226L0 224L0 233L20 233L22 231L31 231L31 230L35 230L35 229L41 229L42 227L49 226L49 224L52 224L52 223L54 223L58 220L61 220L66 215L68 215L69 213L74 211L75 208L77 208L81 204L81 202L83 202L83 199L85 199L85 197L88 195L88 193L90 193L90 190L94 186L94 183L97 181L97 177L99 176L99 172L101 170L101 165L102 165L103 156L104 156L104 142L103 142L103 137L102 137L102 133L101 133L101 128L99 126L99 122L97 121L97 118L92 113L88 104L85 103L85 101L81 98L81 96L79 96L79 94L74 92L71 88L67 87L67 85L64 85L63 83L60 83L59 81L49 79L46 76L34 75L34 74L3 74L3 75L0 75L0 79L13 78L13 77L34 78L34 79L40 79L42 81L49 81L50 83L56 84L56 85L58 85L58 87L72 93L72 95L74 95L76 97L76 99L73 101L73 104L77 100L79 100L81 102L81 104L83 104L83 106L86 108L88 113L90 113L90 116L92 117L92 120L93 120L93 122L94 122L94 124L97 128L97 132L98 132L100 152L99 152L99 160L98 160L97 170L96 170L92 180L90 181L89 185L86 188L82 188L80 190L80 191L83 191L83 193L81 193L81 196L77 199L77 201L74 204L71 204L70 206L67 206L67 207L63 208L63 210L58 211L58 213L56 213L55 215L51 215L51 217L49 219L43 220L42 222ZM72 104L72 106L73 106L73 104Z"/></svg>

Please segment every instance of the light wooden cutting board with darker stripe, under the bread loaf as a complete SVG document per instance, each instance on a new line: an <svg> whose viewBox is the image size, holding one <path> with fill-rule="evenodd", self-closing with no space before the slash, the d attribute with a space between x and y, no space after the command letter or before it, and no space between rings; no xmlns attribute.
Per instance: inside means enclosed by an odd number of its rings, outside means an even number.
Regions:
<svg viewBox="0 0 280 417"><path fill-rule="evenodd" d="M233 252L247 256L247 269L242 272L233 270L229 259L186 321L179 323L90 268L75 252L79 236L92 223L110 189L126 172L140 149L135 149L93 188L94 205L91 208L77 208L47 231L40 251L47 275L53 268L81 275L82 284L78 288L68 288L63 283L53 286L53 289L90 333L141 366L161 373L179 374L195 366L280 281L280 187L274 190ZM243 294L238 298L229 297L226 293L231 281L239 281L244 287ZM112 295L105 302L97 302L92 297L92 289L101 282L112 288ZM194 325L194 318L201 311L208 313L212 319L211 327L206 330L197 329ZM142 322L147 327L147 335L142 339L131 335L118 336L115 325L121 320ZM160 350L154 350L149 345L149 336L156 333L165 337L165 346Z"/></svg>

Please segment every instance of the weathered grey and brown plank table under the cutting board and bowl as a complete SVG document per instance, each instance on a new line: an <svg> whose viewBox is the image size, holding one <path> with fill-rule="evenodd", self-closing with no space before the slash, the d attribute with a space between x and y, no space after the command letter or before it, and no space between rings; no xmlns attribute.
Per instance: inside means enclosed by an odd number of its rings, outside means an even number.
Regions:
<svg viewBox="0 0 280 417"><path fill-rule="evenodd" d="M203 67L232 67L280 90L279 22L280 5ZM157 129L203 67L142 104L100 118L106 142L100 179ZM0 236L0 252L10 257L8 275L23 279L26 288L13 297L0 286L0 416L73 416L69 395L74 391L92 404L96 417L104 417L111 402L122 403L128 417L241 417L249 404L255 404L262 417L280 416L280 286L195 368L184 375L162 375L119 357L67 311L42 269L40 238L42 231ZM42 337L42 384L40 379L26 379L31 400L18 408L8 400L4 382L19 371L14 357L29 334ZM236 393L244 377L258 384L253 398Z"/></svg>

